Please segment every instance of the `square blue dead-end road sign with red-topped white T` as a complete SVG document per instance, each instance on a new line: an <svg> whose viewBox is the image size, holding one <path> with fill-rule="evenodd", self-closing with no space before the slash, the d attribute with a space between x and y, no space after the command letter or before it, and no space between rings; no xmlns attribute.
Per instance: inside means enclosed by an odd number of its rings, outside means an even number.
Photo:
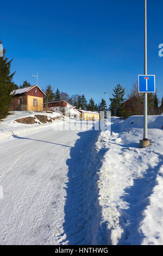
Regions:
<svg viewBox="0 0 163 256"><path fill-rule="evenodd" d="M139 93L155 93L155 75L138 76Z"/></svg>

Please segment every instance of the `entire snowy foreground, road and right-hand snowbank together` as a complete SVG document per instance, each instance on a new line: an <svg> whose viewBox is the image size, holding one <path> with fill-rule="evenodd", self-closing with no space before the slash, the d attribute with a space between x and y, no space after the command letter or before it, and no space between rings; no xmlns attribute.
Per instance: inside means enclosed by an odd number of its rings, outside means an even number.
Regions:
<svg viewBox="0 0 163 256"><path fill-rule="evenodd" d="M163 115L148 125L146 149L142 117L113 118L111 133L68 120L12 130L0 142L0 244L162 245Z"/></svg>

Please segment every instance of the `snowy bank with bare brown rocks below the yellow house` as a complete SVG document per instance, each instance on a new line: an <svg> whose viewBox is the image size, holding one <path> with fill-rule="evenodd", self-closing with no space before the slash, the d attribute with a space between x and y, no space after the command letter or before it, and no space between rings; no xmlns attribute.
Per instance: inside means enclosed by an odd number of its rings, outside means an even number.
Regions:
<svg viewBox="0 0 163 256"><path fill-rule="evenodd" d="M54 125L54 121L64 117L57 112L9 112L7 118L0 121L0 141L12 138L12 135L25 135L44 129L47 125Z"/></svg>

